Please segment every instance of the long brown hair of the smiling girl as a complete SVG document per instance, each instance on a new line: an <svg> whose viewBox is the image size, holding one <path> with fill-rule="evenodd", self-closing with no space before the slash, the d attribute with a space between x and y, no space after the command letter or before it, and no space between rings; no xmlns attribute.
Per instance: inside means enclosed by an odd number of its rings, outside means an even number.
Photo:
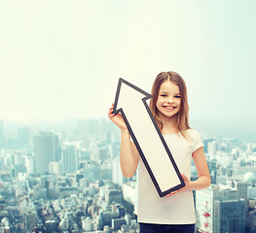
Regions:
<svg viewBox="0 0 256 233"><path fill-rule="evenodd" d="M168 71L168 72L162 72L157 76L151 90L151 94L153 95L153 98L150 100L150 104L149 104L150 110L153 116L155 117L160 129L162 130L163 122L161 121L161 118L158 115L157 101L159 97L160 86L162 83L165 83L166 81L170 81L171 83L174 83L179 86L181 104L180 104L180 110L176 115L176 122L177 122L178 130L180 131L181 135L189 139L188 135L185 132L187 129L190 129L187 87L183 78L179 74L173 71Z"/></svg>

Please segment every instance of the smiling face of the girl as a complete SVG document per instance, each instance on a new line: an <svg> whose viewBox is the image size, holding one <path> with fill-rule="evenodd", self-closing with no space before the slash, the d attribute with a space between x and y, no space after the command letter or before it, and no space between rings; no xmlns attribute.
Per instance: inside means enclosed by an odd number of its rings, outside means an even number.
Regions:
<svg viewBox="0 0 256 233"><path fill-rule="evenodd" d="M179 86L170 81L162 83L157 100L157 109L160 118L175 116L180 110L180 105L181 97Z"/></svg>

